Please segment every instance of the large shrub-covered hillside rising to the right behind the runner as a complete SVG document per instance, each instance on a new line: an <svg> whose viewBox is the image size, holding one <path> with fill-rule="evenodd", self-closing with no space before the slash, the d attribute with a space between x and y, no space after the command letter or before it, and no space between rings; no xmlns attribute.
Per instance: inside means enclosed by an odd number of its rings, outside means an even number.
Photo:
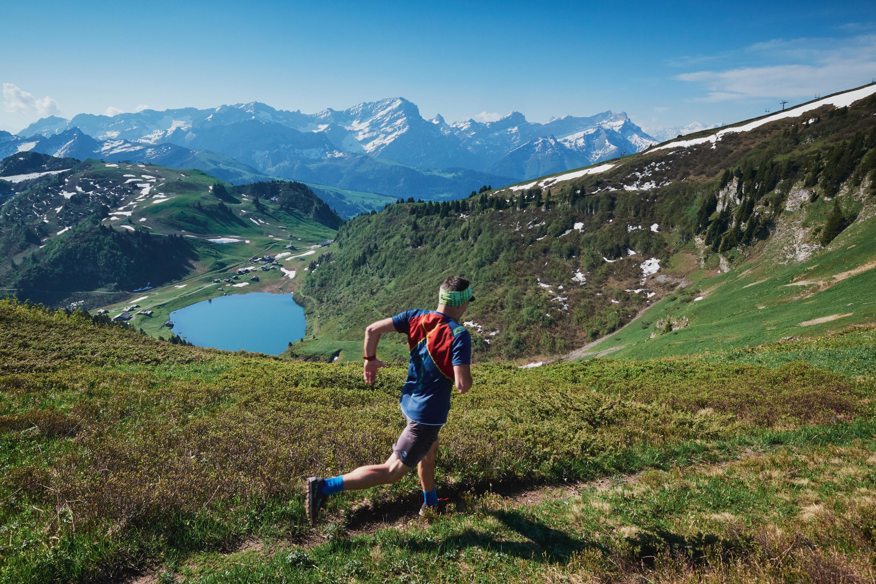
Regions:
<svg viewBox="0 0 876 584"><path fill-rule="evenodd" d="M600 352L690 354L870 322L872 89L714 142L357 217L301 285L310 328L293 351L355 355L368 322L434 306L450 273L474 284L465 319L482 360L555 359L621 328ZM665 317L689 327L662 334ZM798 326L823 317L836 320Z"/></svg>

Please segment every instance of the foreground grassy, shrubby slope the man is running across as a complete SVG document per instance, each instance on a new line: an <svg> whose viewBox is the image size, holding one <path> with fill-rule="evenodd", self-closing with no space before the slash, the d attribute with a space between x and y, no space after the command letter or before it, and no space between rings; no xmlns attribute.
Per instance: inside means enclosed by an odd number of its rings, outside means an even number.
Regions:
<svg viewBox="0 0 876 584"><path fill-rule="evenodd" d="M312 530L300 477L385 457L404 366L371 387L0 301L0 580L865 581L873 341L477 365L449 516L412 518L408 476Z"/></svg>

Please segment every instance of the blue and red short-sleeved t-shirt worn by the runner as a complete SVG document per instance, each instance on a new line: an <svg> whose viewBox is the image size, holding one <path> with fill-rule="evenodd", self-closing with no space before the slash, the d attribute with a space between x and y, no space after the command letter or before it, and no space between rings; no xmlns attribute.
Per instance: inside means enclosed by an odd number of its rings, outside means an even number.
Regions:
<svg viewBox="0 0 876 584"><path fill-rule="evenodd" d="M411 364L401 391L401 411L419 424L447 422L454 365L471 362L469 331L434 310L406 310L392 317L392 326L407 334Z"/></svg>

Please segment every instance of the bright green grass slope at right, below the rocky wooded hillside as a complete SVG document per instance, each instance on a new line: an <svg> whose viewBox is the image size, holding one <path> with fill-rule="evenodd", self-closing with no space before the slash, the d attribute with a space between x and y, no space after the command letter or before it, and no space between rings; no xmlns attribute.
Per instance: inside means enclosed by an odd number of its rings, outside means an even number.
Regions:
<svg viewBox="0 0 876 584"><path fill-rule="evenodd" d="M816 337L876 322L876 217L846 229L828 250L797 263L776 261L767 246L731 271L695 271L639 320L592 348L611 357L651 358L726 351ZM667 331L658 321L689 324Z"/></svg>

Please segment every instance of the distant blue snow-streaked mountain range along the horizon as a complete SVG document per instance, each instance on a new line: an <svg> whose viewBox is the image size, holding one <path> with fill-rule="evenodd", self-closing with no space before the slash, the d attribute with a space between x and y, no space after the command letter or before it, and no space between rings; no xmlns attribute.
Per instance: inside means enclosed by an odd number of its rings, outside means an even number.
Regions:
<svg viewBox="0 0 876 584"><path fill-rule="evenodd" d="M532 123L427 120L401 97L315 114L264 103L145 109L117 116L48 116L11 135L0 156L136 159L192 167L240 184L264 176L392 196L448 199L656 144L624 112Z"/></svg>

